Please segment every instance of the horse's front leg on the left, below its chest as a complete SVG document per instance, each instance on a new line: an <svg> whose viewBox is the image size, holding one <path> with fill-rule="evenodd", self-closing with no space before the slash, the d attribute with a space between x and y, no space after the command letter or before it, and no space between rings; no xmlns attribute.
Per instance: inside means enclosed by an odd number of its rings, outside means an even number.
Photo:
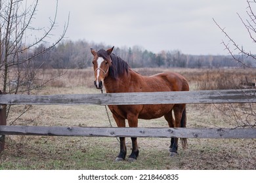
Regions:
<svg viewBox="0 0 256 183"><path fill-rule="evenodd" d="M125 119L116 116L115 114L113 114L113 117L116 121L117 127L125 127ZM125 145L125 137L119 137L120 139L120 152L119 155L116 158L116 161L123 161L125 159L126 156L126 145Z"/></svg>

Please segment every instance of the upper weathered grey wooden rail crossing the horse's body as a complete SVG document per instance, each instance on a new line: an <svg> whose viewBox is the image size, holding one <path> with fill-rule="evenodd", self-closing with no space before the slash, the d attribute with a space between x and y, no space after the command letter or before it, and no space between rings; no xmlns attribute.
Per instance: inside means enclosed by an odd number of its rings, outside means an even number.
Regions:
<svg viewBox="0 0 256 183"><path fill-rule="evenodd" d="M169 103L255 103L256 90L103 93L72 95L1 95L8 105L139 105Z"/></svg>

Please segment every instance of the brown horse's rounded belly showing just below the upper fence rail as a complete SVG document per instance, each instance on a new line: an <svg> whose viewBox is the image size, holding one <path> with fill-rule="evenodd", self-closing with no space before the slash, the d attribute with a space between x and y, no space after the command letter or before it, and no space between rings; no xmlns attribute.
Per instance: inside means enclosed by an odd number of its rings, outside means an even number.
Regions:
<svg viewBox="0 0 256 183"><path fill-rule="evenodd" d="M161 118L173 108L173 105L144 105L139 113L139 118L150 120L154 118Z"/></svg>

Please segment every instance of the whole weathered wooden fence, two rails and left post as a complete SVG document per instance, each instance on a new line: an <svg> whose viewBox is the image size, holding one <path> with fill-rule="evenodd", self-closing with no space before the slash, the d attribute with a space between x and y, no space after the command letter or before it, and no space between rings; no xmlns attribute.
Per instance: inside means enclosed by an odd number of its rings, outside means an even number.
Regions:
<svg viewBox="0 0 256 183"><path fill-rule="evenodd" d="M5 135L86 137L183 137L255 139L256 129L130 128L20 126L6 124L6 105L139 105L139 104L256 103L256 90L205 90L191 92L103 93L77 95L1 95L0 151Z"/></svg>

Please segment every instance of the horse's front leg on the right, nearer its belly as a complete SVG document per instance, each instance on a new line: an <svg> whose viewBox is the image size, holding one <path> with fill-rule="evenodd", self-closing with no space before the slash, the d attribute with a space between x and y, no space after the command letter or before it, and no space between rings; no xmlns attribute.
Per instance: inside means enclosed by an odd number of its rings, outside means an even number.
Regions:
<svg viewBox="0 0 256 183"><path fill-rule="evenodd" d="M129 127L138 127L138 116L127 116ZM139 156L139 148L137 144L137 137L131 137L133 149L128 161L135 161Z"/></svg>

